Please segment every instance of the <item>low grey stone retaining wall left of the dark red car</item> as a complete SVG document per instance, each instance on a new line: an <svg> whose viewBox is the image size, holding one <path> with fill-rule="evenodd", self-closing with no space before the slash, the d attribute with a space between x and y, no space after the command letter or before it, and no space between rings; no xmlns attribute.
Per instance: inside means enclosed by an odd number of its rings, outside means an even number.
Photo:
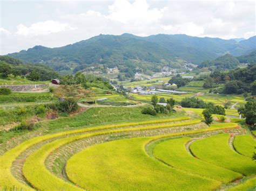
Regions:
<svg viewBox="0 0 256 191"><path fill-rule="evenodd" d="M10 88L12 91L39 91L46 88L48 84L29 84L29 85L0 85L0 88Z"/></svg>

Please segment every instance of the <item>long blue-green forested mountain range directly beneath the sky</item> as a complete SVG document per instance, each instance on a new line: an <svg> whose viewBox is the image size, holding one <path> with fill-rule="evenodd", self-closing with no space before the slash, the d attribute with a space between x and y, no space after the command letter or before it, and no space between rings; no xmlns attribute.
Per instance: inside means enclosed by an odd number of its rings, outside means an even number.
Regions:
<svg viewBox="0 0 256 191"><path fill-rule="evenodd" d="M237 42L185 34L137 37L125 33L121 36L99 35L59 48L35 46L9 55L25 62L44 63L56 70L79 70L103 64L106 67L154 71L163 65L179 68L184 62L199 64L226 52L239 56L252 52L255 40L252 37Z"/></svg>

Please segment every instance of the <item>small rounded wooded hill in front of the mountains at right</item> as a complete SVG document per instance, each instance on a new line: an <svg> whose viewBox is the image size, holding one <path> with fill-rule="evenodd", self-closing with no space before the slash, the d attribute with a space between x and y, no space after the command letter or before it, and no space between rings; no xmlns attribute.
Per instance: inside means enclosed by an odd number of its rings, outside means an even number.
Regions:
<svg viewBox="0 0 256 191"><path fill-rule="evenodd" d="M239 61L237 58L232 56L231 54L225 54L223 56L219 56L215 60L206 60L198 66L199 68L203 67L211 67L211 68L217 68L219 70L225 70L225 69L234 69L237 68L239 65Z"/></svg>

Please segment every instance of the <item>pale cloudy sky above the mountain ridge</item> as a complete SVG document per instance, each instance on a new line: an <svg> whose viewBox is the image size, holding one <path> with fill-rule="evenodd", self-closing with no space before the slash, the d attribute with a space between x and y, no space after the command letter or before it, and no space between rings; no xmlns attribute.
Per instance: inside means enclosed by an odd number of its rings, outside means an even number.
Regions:
<svg viewBox="0 0 256 191"><path fill-rule="evenodd" d="M0 55L60 47L99 34L255 36L255 1L0 0Z"/></svg>

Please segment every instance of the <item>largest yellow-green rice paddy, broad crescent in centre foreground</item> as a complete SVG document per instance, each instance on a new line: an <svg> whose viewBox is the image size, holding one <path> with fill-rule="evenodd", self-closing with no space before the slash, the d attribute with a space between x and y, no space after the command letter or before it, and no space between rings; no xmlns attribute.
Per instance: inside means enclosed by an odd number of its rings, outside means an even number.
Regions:
<svg viewBox="0 0 256 191"><path fill-rule="evenodd" d="M92 146L71 157L66 173L80 187L96 190L183 190L188 187L200 190L220 185L218 181L187 174L153 160L144 151L149 140L133 138Z"/></svg>

